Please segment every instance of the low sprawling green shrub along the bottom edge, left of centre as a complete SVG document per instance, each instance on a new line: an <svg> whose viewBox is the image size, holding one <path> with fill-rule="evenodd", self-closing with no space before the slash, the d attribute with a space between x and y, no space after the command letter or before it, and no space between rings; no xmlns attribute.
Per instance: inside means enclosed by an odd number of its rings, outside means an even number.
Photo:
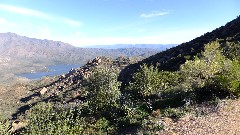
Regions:
<svg viewBox="0 0 240 135"><path fill-rule="evenodd" d="M27 115L28 125L20 134L30 135L76 135L76 134L111 134L116 127L104 118L82 115L83 108L66 108L51 103L40 103L30 109Z"/></svg>

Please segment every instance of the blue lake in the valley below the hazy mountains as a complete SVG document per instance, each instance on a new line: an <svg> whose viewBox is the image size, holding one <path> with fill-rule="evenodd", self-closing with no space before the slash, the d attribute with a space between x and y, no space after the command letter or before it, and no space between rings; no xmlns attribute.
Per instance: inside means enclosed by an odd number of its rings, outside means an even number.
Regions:
<svg viewBox="0 0 240 135"><path fill-rule="evenodd" d="M78 68L80 66L81 65L79 64L53 65L53 66L47 67L47 69L49 70L48 72L22 73L22 74L17 74L17 76L36 80L44 76L56 76L56 75L66 74L69 70L71 70L71 68Z"/></svg>

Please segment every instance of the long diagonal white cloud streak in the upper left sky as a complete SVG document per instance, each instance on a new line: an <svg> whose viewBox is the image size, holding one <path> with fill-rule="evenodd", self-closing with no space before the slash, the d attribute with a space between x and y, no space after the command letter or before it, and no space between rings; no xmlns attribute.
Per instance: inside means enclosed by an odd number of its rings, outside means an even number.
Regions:
<svg viewBox="0 0 240 135"><path fill-rule="evenodd" d="M50 20L50 21L57 21L57 22L60 21L72 27L80 27L83 25L81 22L76 20L72 20L64 17L52 16L44 12L40 12L37 10L28 9L28 8L17 7L17 6L0 4L0 10L4 10L7 12L24 15L24 16L39 17L42 19Z"/></svg>

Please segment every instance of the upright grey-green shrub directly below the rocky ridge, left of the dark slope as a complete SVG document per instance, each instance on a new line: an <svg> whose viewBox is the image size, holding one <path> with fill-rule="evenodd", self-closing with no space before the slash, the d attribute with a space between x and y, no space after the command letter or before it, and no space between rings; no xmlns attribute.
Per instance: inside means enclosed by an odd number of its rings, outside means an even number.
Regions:
<svg viewBox="0 0 240 135"><path fill-rule="evenodd" d="M119 106L121 83L117 78L118 72L114 69L98 68L86 80L87 102L93 114L109 114Z"/></svg>

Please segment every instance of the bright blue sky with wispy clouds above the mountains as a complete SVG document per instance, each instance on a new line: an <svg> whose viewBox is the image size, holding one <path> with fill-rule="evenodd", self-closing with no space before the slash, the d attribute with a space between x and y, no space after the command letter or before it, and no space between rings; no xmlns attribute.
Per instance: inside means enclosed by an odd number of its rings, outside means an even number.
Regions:
<svg viewBox="0 0 240 135"><path fill-rule="evenodd" d="M0 0L0 33L75 46L180 44L240 15L240 0Z"/></svg>

